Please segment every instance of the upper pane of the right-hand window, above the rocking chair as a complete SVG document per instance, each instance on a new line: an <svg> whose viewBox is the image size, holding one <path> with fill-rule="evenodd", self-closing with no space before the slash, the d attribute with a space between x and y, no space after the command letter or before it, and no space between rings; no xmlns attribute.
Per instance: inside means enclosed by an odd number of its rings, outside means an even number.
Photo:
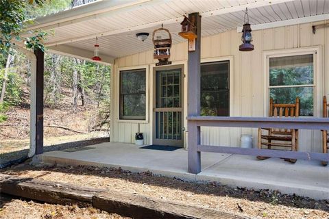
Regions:
<svg viewBox="0 0 329 219"><path fill-rule="evenodd" d="M313 84L313 54L269 59L269 86L303 84Z"/></svg>

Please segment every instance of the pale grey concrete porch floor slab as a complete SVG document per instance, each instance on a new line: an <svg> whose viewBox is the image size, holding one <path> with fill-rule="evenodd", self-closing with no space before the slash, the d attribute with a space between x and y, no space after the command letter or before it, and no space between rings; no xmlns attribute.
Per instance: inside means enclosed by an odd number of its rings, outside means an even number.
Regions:
<svg viewBox="0 0 329 219"><path fill-rule="evenodd" d="M63 165L121 167L132 172L151 171L155 175L187 181L217 181L233 187L279 190L315 199L329 199L329 167L320 162L283 159L259 161L255 157L202 153L202 172L188 173L187 151L156 151L123 143L96 144L85 151L52 151L36 157L36 162Z"/></svg>

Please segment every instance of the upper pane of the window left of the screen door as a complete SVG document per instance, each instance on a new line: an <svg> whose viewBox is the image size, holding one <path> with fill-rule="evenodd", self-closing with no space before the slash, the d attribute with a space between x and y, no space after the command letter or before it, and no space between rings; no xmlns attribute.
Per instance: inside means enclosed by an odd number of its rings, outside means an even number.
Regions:
<svg viewBox="0 0 329 219"><path fill-rule="evenodd" d="M121 71L121 94L136 94L145 92L145 69Z"/></svg>

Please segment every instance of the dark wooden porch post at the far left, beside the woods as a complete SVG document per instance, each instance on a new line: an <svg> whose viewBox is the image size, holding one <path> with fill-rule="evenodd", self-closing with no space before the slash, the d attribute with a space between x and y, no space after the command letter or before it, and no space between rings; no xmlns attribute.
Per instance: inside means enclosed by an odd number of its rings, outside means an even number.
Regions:
<svg viewBox="0 0 329 219"><path fill-rule="evenodd" d="M43 153L43 76L44 76L44 56L45 53L41 49L36 49L34 51L34 55L36 55L36 81L32 81L36 85L36 95L32 96L34 100L35 110L34 112L35 118L35 127L31 127L31 129L35 129L35 136L32 136L34 139L34 144L36 145L36 155Z"/></svg>

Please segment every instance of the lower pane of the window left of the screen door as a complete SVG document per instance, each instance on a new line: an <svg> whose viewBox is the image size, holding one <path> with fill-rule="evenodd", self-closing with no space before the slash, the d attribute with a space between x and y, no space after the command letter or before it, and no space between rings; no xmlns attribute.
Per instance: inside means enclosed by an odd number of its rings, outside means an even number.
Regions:
<svg viewBox="0 0 329 219"><path fill-rule="evenodd" d="M123 94L123 116L138 116L145 119L145 94Z"/></svg>

